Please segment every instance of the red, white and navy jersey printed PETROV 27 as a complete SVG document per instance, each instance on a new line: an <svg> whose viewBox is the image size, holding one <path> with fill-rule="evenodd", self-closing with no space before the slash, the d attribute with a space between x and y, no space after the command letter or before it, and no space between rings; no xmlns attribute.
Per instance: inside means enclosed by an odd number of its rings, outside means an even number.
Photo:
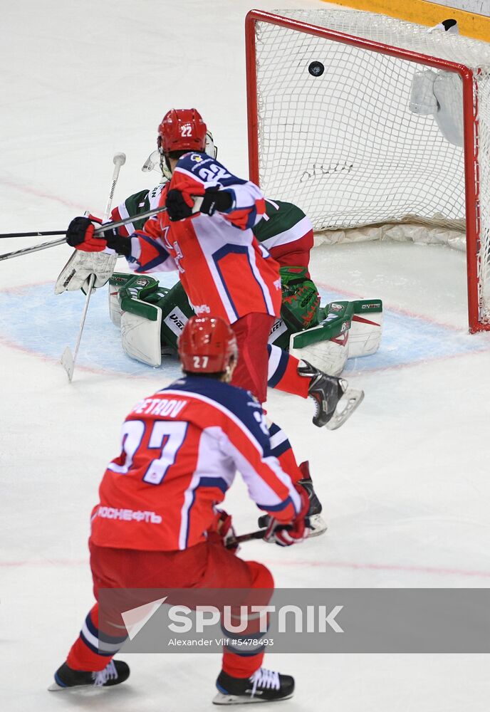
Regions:
<svg viewBox="0 0 490 712"><path fill-rule="evenodd" d="M205 377L179 379L125 420L122 451L100 483L91 540L148 551L202 542L236 470L259 508L291 521L301 501L273 446L249 392Z"/></svg>

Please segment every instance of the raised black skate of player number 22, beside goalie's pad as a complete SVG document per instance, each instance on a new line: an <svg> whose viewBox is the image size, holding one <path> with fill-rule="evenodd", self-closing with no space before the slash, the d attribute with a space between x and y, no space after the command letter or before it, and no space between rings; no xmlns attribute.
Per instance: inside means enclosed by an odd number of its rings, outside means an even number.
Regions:
<svg viewBox="0 0 490 712"><path fill-rule="evenodd" d="M308 394L316 404L313 424L328 430L340 428L363 402L364 391L349 388L345 378L328 376L308 361L302 362L304 365L298 366L298 373L311 378Z"/></svg>

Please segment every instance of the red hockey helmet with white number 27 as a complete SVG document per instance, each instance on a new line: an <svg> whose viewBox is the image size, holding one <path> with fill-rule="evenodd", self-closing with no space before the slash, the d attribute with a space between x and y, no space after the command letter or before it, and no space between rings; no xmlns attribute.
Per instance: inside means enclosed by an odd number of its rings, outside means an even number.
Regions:
<svg viewBox="0 0 490 712"><path fill-rule="evenodd" d="M236 337L220 317L192 316L179 337L179 357L184 371L224 372L238 357Z"/></svg>

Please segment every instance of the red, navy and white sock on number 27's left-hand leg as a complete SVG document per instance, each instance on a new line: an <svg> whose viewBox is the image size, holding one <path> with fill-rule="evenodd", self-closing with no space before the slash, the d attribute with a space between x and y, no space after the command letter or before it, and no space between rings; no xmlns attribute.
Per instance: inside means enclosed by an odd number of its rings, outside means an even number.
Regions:
<svg viewBox="0 0 490 712"><path fill-rule="evenodd" d="M125 642L127 636L115 638L100 633L98 614L99 606L96 603L85 618L80 635L68 653L66 664L72 670L103 670Z"/></svg>

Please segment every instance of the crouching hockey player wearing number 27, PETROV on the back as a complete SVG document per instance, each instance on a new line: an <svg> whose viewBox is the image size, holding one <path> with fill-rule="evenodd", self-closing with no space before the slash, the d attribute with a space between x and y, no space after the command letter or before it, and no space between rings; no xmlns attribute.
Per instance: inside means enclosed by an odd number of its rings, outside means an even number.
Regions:
<svg viewBox="0 0 490 712"><path fill-rule="evenodd" d="M100 483L89 540L96 599L102 588L226 589L230 582L234 589L272 595L269 570L224 546L231 519L217 505L236 470L271 516L266 538L288 546L308 535L306 491L274 456L260 404L229 384L237 360L229 325L192 317L180 337L179 356L184 377L132 409L121 453ZM127 664L112 659L125 636L111 620L113 629L103 627L95 604L50 690L127 679ZM108 636L110 649L101 645ZM291 697L293 678L262 668L263 659L264 646L245 655L224 649L214 702Z"/></svg>

